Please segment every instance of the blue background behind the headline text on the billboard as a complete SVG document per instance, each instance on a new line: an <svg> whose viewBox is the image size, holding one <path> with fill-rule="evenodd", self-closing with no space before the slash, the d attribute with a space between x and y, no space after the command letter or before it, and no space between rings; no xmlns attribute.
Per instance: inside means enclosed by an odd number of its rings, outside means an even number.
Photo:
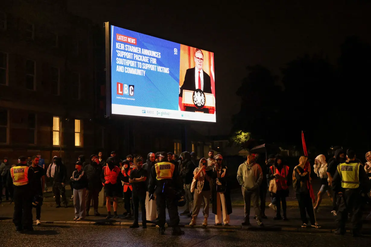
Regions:
<svg viewBox="0 0 371 247"><path fill-rule="evenodd" d="M116 34L122 34L137 39L137 45L125 43L116 40ZM111 26L111 91L112 104L121 104L127 106L151 107L167 110L178 110L179 96L179 70L180 70L180 44L171 41L159 39L149 35L137 33L127 29ZM128 74L125 72L116 71L117 65L130 67L122 64L116 64L117 52L116 43L127 44L141 49L157 51L161 53L161 58L154 57L157 60L158 66L169 68L170 73L159 71L145 70L145 76ZM174 54L174 48L178 50L178 54ZM127 51L130 52L130 51ZM133 53L133 52L130 52ZM139 53L133 53L139 54ZM141 54L142 56L148 56ZM148 56L152 57L152 56ZM118 57L127 59L125 57ZM137 61L134 59L128 59ZM142 63L142 61L137 61ZM152 64L152 63L148 63ZM138 66L135 69L141 69ZM117 83L134 85L134 96L118 95ZM135 100L116 99L116 97L134 98Z"/></svg>

